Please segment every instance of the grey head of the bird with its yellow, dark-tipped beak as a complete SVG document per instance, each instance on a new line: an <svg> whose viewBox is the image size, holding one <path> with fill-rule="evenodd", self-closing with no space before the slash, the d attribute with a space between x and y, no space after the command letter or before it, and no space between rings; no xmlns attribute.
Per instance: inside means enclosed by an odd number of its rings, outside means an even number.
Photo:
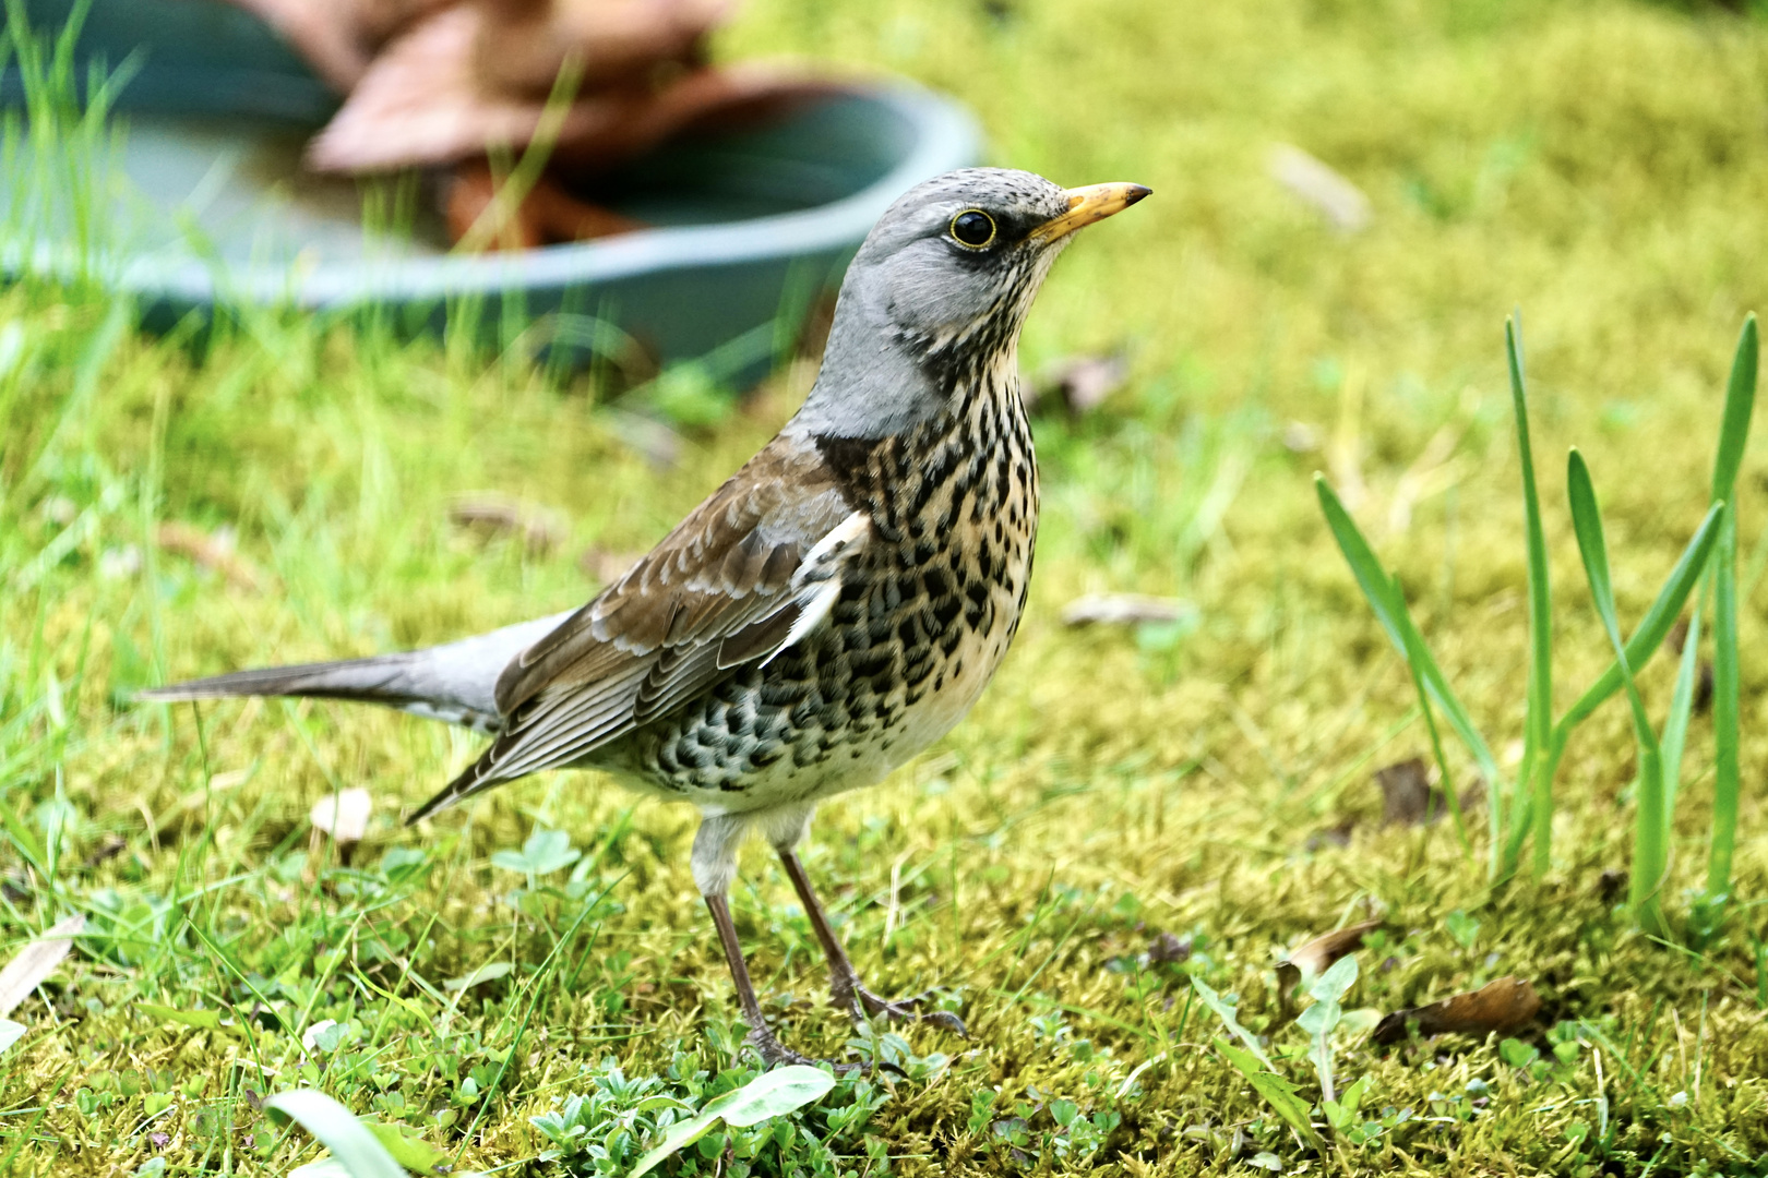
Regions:
<svg viewBox="0 0 1768 1178"><path fill-rule="evenodd" d="M1018 328L1070 233L1144 196L1139 184L1064 189L1008 168L909 189L847 268L822 371L792 427L880 438L990 374L1015 380Z"/></svg>

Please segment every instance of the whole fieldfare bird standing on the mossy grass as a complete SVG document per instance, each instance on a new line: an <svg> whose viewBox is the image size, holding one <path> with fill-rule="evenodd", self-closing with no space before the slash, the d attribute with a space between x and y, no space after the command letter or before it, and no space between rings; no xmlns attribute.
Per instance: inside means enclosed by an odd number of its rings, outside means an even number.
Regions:
<svg viewBox="0 0 1768 1178"><path fill-rule="evenodd" d="M834 1003L912 1017L914 1000L861 985L796 846L817 802L939 740L1001 664L1038 532L1020 327L1070 233L1147 193L997 168L911 189L849 267L797 415L582 609L145 698L362 699L492 735L410 821L548 768L596 768L691 802L693 878L767 1061L799 1056L769 1031L730 922L751 830L804 904Z"/></svg>

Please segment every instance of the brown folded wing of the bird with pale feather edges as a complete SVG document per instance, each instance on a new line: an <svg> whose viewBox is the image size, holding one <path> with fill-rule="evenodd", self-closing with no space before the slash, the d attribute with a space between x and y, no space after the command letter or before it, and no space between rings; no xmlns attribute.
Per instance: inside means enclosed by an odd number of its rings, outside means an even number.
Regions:
<svg viewBox="0 0 1768 1178"><path fill-rule="evenodd" d="M504 669L502 733L410 821L500 781L578 761L732 668L771 657L815 611L813 581L831 576L808 569L806 555L817 549L820 567L850 549L861 539L852 519L815 447L774 438L626 576Z"/></svg>

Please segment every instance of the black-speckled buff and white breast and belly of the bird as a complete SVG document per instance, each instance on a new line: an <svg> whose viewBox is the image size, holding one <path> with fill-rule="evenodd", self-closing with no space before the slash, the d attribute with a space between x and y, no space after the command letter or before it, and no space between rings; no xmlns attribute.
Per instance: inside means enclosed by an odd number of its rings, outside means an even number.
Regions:
<svg viewBox="0 0 1768 1178"><path fill-rule="evenodd" d="M824 627L633 733L622 768L751 811L872 784L956 724L1018 631L1038 468L1011 389L882 440L819 440L872 537Z"/></svg>

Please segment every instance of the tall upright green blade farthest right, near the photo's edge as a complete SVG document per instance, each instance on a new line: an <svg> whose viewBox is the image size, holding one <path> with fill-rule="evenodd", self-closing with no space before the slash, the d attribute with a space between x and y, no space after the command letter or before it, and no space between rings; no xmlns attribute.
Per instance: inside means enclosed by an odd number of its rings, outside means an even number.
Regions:
<svg viewBox="0 0 1768 1178"><path fill-rule="evenodd" d="M1736 482L1749 442L1750 415L1756 410L1756 371L1759 343L1756 316L1743 320L1738 351L1726 383L1726 415L1718 433L1718 457L1713 461L1713 500L1729 503L1718 530L1713 558L1713 835L1706 851L1704 924L1731 892L1731 855L1738 841L1738 747L1741 744L1738 705L1738 509Z"/></svg>

